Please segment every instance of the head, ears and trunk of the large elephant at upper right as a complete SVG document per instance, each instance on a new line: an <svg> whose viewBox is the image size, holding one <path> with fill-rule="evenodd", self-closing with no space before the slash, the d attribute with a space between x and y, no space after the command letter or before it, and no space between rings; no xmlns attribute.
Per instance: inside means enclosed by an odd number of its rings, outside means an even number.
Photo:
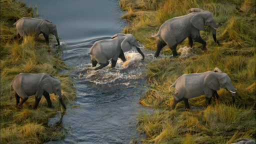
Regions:
<svg viewBox="0 0 256 144"><path fill-rule="evenodd" d="M207 10L200 8L190 8L189 12L196 12L196 14L190 19L191 24L198 30L204 30L204 25L212 28L212 36L214 41L219 44L216 39L217 25L212 14Z"/></svg>

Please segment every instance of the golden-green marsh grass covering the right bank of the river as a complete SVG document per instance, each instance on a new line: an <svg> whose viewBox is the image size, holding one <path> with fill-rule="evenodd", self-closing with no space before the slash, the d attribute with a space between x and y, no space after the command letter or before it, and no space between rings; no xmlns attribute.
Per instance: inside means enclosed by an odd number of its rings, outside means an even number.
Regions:
<svg viewBox="0 0 256 144"><path fill-rule="evenodd" d="M146 49L156 50L160 25L175 16L188 14L189 8L198 7L212 13L217 26L217 45L211 28L200 31L207 42L207 50L194 42L196 56L187 59L166 57L148 61L147 84L149 90L139 102L157 109L152 114L138 114L138 130L147 138L142 143L233 143L240 137L255 139L255 0L120 0L127 12L122 18L128 21L123 33L131 33L144 43ZM187 46L187 39L178 44ZM171 50L161 53L169 55ZM219 100L212 98L205 106L204 96L189 99L192 108L184 109L179 102L169 110L173 95L169 86L184 73L200 73L220 68L227 73L237 88L236 101L231 103L231 93L218 90Z"/></svg>

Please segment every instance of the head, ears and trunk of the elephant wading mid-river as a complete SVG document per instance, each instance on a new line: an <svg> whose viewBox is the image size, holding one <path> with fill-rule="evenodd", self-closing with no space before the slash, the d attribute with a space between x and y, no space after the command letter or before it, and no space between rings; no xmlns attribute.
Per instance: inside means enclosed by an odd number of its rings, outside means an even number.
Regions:
<svg viewBox="0 0 256 144"><path fill-rule="evenodd" d="M119 37L119 36L123 36L124 39L121 42L121 49L123 52L129 51L131 49L131 46L135 46L138 53L141 54L142 56L142 60L144 59L144 54L142 53L142 51L140 50L141 47L139 47L139 44L136 40L136 38L132 35L132 34L123 34L123 33L117 33L114 34L111 39L115 38L115 37Z"/></svg>

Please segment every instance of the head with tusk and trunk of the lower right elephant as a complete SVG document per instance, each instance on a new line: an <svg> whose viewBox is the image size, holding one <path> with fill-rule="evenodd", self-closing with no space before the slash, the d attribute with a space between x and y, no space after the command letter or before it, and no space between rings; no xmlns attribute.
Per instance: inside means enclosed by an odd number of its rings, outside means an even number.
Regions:
<svg viewBox="0 0 256 144"><path fill-rule="evenodd" d="M236 91L231 79L226 73L211 72L204 78L204 83L213 90L219 90L220 87L229 90L232 93L232 101L235 102Z"/></svg>

